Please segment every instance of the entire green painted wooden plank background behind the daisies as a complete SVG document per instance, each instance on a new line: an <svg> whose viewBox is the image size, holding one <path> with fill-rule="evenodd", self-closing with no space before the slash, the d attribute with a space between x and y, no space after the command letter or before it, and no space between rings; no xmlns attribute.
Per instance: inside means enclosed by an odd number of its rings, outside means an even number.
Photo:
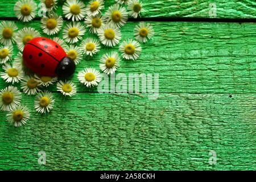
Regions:
<svg viewBox="0 0 256 182"><path fill-rule="evenodd" d="M1 0L1 20L14 20L15 2ZM106 7L113 2L106 1ZM49 87L56 99L51 113L35 113L35 97L24 94L22 103L32 116L27 125L11 127L0 113L0 169L256 169L255 1L214 1L215 22L207 1L143 2L142 18L154 26L154 40L142 45L137 61L123 60L117 73L159 73L158 100L147 94L100 94L79 84L77 72L98 69L108 51L102 48L77 67L75 97L64 98ZM187 17L209 22L168 21ZM39 19L15 22L42 33ZM121 29L123 39L133 38L137 23L130 20ZM1 79L0 88L6 86ZM215 165L209 164L210 150L217 154ZM38 164L39 151L46 152L45 166Z"/></svg>

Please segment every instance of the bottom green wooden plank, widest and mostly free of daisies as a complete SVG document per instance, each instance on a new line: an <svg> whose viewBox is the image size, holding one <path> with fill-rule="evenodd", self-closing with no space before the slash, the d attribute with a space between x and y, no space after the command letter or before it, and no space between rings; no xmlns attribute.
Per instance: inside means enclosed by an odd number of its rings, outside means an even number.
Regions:
<svg viewBox="0 0 256 182"><path fill-rule="evenodd" d="M46 115L23 97L32 117L20 128L0 113L0 169L256 169L255 94L160 94L154 102L131 94L54 96Z"/></svg>

